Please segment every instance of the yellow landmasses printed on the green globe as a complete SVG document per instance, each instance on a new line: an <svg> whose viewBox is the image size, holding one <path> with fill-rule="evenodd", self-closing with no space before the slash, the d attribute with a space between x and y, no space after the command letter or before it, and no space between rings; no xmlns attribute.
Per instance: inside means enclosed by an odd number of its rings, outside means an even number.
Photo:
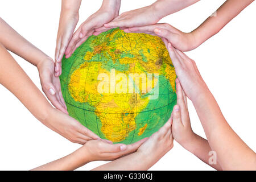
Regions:
<svg viewBox="0 0 256 182"><path fill-rule="evenodd" d="M114 38L115 33L120 33L120 31L114 30L112 34L109 34L110 40ZM101 131L107 139L113 142L122 141L129 135L130 131L135 130L135 118L147 106L149 100L148 97L142 97L141 85L137 85L140 93L99 93L97 76L104 73L110 77L110 71L107 68L102 68L100 61L90 61L93 56L104 53L105 57L110 57L113 64L117 63L118 60L121 65L129 65L127 70L129 73L147 72L167 75L172 89L175 90L175 78L172 76L175 74L175 70L174 67L171 67L170 56L167 51L160 52L160 54L157 52L157 50L166 50L162 40L152 36L151 41L146 41L139 34L125 34L124 32L122 36L121 39L111 41L114 44L115 51L113 51L112 45L107 45L106 42L94 47L92 52L87 51L84 56L86 61L73 71L68 85L69 93L75 101L89 102L90 105L96 108L94 113L101 120ZM131 47L136 47L130 52L132 56L121 55L122 52L130 51ZM147 64L143 64L145 62L144 57L147 57ZM166 67L161 67L162 59L170 65L167 64ZM116 69L115 73L123 73L123 71ZM155 84L156 82L154 82L151 89L154 88ZM137 135L142 135L146 127L147 124L141 127Z"/></svg>

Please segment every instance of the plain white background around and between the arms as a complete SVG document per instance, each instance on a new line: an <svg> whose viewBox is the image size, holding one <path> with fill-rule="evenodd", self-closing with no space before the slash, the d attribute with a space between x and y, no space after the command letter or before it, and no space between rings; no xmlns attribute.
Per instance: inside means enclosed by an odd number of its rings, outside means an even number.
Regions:
<svg viewBox="0 0 256 182"><path fill-rule="evenodd" d="M241 0L243 1L243 0ZM120 13L150 5L149 0L123 0ZM202 0L167 16L167 22L189 32L200 25L224 0ZM83 1L78 26L101 5L101 0ZM1 0L0 16L24 38L54 57L61 1ZM213 38L187 52L212 91L230 126L256 151L256 4L252 3ZM22 58L14 58L40 87L37 69ZM189 102L192 129L205 137L195 109ZM13 94L0 85L0 169L27 170L61 158L79 144L69 142L42 125ZM234 148L236 150L236 148ZM243 156L241 156L242 158ZM105 162L92 162L88 170ZM213 170L178 143L152 170Z"/></svg>

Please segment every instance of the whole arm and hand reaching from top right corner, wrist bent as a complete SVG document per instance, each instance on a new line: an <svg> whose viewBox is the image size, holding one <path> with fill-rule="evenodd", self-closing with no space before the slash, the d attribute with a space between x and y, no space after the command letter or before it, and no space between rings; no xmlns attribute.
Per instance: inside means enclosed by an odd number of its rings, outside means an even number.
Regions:
<svg viewBox="0 0 256 182"><path fill-rule="evenodd" d="M210 16L204 23L189 33L182 32L167 23L125 28L124 31L157 35L166 38L172 46L180 51L191 51L217 34L230 20L253 1L228 0L216 11L216 14Z"/></svg>

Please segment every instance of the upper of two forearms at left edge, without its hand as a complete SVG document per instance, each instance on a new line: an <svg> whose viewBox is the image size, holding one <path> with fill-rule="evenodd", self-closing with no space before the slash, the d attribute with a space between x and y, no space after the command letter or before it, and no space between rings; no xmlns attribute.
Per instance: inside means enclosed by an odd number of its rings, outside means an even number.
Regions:
<svg viewBox="0 0 256 182"><path fill-rule="evenodd" d="M44 59L44 57L47 57L45 53L24 39L1 18L0 43L9 51L23 57L23 59L29 61L35 66Z"/></svg>

